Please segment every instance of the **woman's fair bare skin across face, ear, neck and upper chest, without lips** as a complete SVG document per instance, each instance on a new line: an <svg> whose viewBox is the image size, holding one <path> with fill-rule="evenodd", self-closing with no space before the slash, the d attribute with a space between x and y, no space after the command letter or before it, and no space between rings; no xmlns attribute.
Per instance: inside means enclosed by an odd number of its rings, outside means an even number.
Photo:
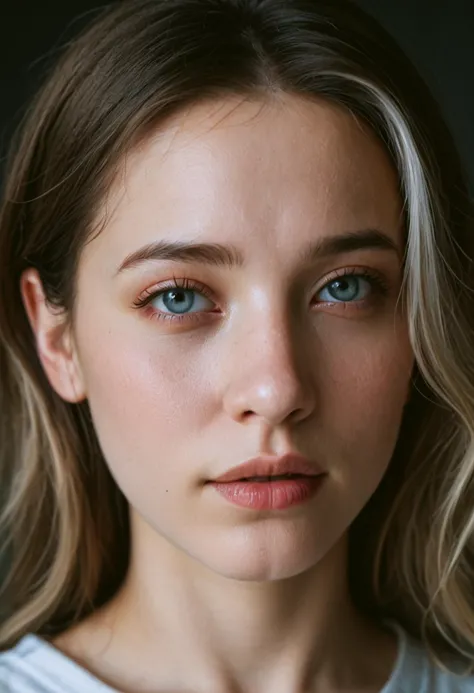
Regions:
<svg viewBox="0 0 474 693"><path fill-rule="evenodd" d="M346 554L390 461L413 367L386 153L325 102L227 97L129 154L105 209L80 258L72 329L37 273L22 277L48 378L64 399L88 399L130 504L123 588L55 646L126 693L379 691L396 644L351 604ZM387 242L367 241L368 229ZM310 243L348 233L365 246L320 247L309 262ZM242 264L118 271L165 240L232 244ZM342 289L331 284L340 270L351 275ZM182 322L155 319L182 315L172 292L134 307L143 292L170 292L173 276L199 287ZM205 484L288 451L326 472L301 505L238 508Z"/></svg>

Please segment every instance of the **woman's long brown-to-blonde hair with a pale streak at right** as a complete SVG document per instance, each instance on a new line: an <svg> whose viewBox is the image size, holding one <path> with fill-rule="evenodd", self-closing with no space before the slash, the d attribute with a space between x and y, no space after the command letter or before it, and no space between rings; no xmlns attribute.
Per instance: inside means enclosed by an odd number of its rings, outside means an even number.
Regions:
<svg viewBox="0 0 474 693"><path fill-rule="evenodd" d="M72 315L81 248L124 154L187 105L269 90L326 98L366 122L405 202L402 298L416 373L389 471L351 529L354 598L398 620L440 663L474 653L470 203L426 86L345 0L124 2L67 47L32 103L0 210L2 648L27 632L58 633L108 601L129 557L126 500L87 402L62 401L45 377L21 274L36 267L48 301ZM377 527L373 546L361 540L367 526Z"/></svg>

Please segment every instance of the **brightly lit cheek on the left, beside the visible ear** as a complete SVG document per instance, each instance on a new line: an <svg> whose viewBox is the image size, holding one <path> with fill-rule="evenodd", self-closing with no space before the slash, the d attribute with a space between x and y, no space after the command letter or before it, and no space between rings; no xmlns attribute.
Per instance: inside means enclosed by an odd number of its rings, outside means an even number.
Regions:
<svg viewBox="0 0 474 693"><path fill-rule="evenodd" d="M211 397L199 353L129 325L120 332L91 335L81 349L89 405L113 473L156 466L173 451L179 457L186 440L195 439ZM176 462L171 468L179 469Z"/></svg>

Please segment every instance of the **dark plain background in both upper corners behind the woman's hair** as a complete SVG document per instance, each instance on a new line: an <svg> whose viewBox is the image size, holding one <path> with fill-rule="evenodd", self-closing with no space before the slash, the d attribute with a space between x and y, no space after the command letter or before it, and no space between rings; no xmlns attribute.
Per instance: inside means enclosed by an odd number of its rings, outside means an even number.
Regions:
<svg viewBox="0 0 474 693"><path fill-rule="evenodd" d="M356 0L395 36L441 104L474 190L474 0ZM0 176L29 95L105 2L0 0Z"/></svg>

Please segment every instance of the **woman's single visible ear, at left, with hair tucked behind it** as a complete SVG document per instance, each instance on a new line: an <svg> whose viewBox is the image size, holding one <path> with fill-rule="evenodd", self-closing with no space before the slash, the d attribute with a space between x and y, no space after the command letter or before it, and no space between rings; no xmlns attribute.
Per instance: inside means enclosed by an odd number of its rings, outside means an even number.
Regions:
<svg viewBox="0 0 474 693"><path fill-rule="evenodd" d="M23 272L20 289L38 357L52 388L67 402L80 402L86 397L85 384L67 312L46 301L36 269Z"/></svg>

